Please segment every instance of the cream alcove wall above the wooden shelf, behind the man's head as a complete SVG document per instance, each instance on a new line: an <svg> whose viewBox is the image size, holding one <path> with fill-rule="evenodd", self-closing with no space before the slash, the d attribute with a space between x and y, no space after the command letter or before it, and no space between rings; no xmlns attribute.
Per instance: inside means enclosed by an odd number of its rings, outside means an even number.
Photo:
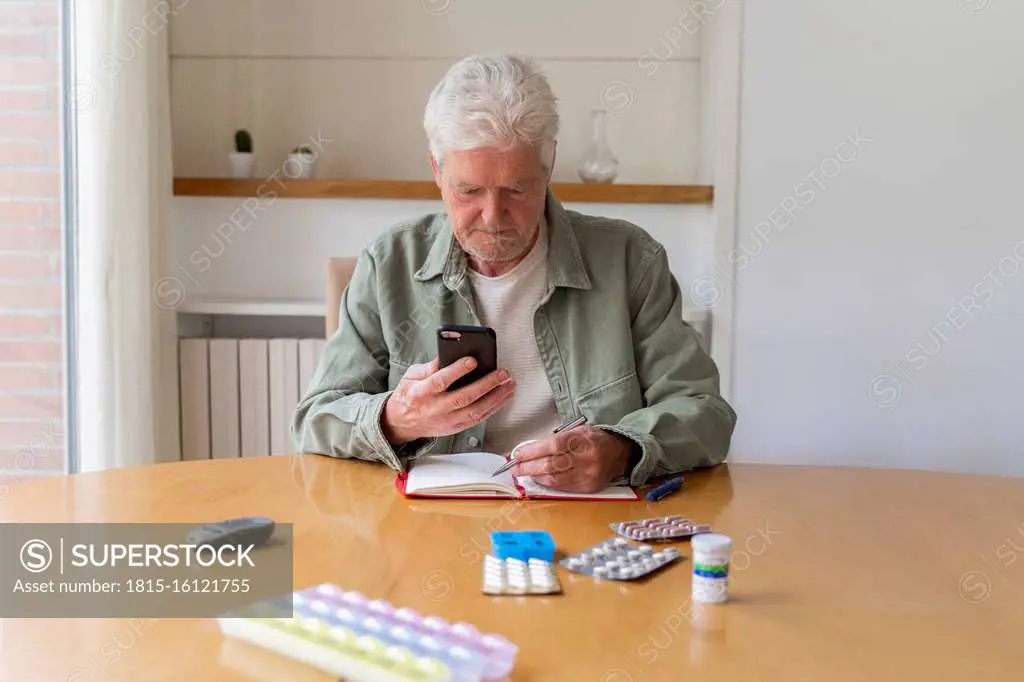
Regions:
<svg viewBox="0 0 1024 682"><path fill-rule="evenodd" d="M171 25L178 176L223 176L238 128L256 174L310 136L324 177L430 178L423 108L444 72L481 51L538 59L559 97L554 178L579 180L607 108L618 181L694 184L699 164L700 18L692 0L217 0ZM538 17L543 17L538 20Z"/></svg>

